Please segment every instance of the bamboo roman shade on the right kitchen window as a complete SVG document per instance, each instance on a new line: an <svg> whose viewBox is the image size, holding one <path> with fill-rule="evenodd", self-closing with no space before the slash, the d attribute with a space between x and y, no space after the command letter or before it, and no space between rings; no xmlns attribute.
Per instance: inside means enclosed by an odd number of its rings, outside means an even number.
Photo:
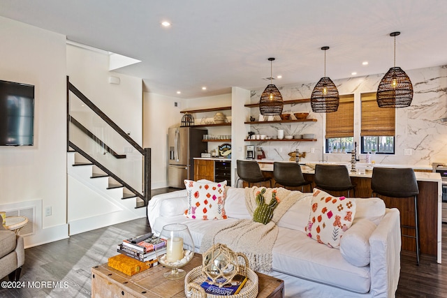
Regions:
<svg viewBox="0 0 447 298"><path fill-rule="evenodd" d="M379 108L375 92L362 94L360 98L362 100L362 127L360 136L394 137L396 110Z"/></svg>

